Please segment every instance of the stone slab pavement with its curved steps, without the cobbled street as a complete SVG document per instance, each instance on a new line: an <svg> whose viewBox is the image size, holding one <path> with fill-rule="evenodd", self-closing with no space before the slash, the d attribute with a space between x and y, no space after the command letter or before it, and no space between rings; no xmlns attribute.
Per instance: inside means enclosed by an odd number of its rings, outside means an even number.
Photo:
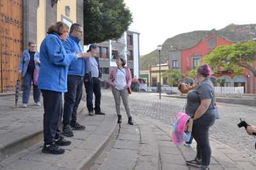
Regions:
<svg viewBox="0 0 256 170"><path fill-rule="evenodd" d="M136 94L132 97L135 98ZM10 96L0 97L2 148L10 139L16 141L13 145L18 145L17 141L23 138L20 135L22 132L28 138L29 134L42 131L42 106L14 108L13 100ZM34 143L26 141L26 147L13 147L15 152L12 155L0 149L0 169L197 169L185 163L195 157L195 143L192 147L174 145L170 136L172 125L145 117L138 111L133 114L136 125L131 126L127 124L122 109L123 123L119 129L114 100L109 90L102 90L102 111L106 112L105 116L89 117L87 111L83 110L84 102L79 107L79 120L86 125L86 130L74 131L74 138L68 138L72 145L65 146L63 155L42 153L41 134ZM211 139L211 147L210 169L250 170L256 167L253 160L244 159L239 151L219 141Z"/></svg>

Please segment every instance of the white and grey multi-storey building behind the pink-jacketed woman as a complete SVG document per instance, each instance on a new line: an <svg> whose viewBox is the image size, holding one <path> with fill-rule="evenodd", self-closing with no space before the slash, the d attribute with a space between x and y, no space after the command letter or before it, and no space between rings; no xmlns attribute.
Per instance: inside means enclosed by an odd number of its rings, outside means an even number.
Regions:
<svg viewBox="0 0 256 170"><path fill-rule="evenodd" d="M140 75L140 33L125 31L117 40L97 43L99 48L99 61L102 68L102 81L108 81L108 76L113 67L116 67L116 57L124 57L131 69L132 77ZM84 46L88 49L89 46Z"/></svg>

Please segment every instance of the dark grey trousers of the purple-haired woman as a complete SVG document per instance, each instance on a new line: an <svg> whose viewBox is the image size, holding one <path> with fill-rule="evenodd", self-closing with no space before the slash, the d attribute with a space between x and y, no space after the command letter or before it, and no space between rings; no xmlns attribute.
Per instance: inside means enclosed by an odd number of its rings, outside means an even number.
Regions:
<svg viewBox="0 0 256 170"><path fill-rule="evenodd" d="M194 120L192 135L196 141L196 157L202 159L202 166L208 167L211 162L211 146L209 143L209 129L215 122L214 110L210 110L202 117Z"/></svg>

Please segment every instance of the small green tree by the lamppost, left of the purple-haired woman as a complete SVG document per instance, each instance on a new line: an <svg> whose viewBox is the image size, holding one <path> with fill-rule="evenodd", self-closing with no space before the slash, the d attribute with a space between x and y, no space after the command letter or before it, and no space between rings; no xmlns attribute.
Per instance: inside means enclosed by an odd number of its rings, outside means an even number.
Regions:
<svg viewBox="0 0 256 170"><path fill-rule="evenodd" d="M168 83L172 86L177 86L179 81L184 78L184 74L180 73L179 69L168 69L162 76L168 77Z"/></svg>

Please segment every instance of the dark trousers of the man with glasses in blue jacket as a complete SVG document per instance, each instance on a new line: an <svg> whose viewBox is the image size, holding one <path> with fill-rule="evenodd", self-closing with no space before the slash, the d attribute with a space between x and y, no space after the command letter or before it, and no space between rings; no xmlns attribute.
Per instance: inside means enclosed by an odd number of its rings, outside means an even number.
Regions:
<svg viewBox="0 0 256 170"><path fill-rule="evenodd" d="M68 75L67 88L64 96L64 125L76 124L77 108L83 93L83 76Z"/></svg>

